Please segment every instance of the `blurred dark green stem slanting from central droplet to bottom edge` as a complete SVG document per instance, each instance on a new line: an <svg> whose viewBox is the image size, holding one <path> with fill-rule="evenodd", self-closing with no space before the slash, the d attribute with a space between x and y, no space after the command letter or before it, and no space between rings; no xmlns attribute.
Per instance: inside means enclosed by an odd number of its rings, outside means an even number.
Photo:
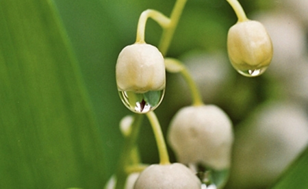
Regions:
<svg viewBox="0 0 308 189"><path fill-rule="evenodd" d="M134 114L133 123L131 124L131 134L125 138L123 151L120 155L119 164L116 170L116 189L123 189L125 187L125 181L127 179L125 168L129 165L129 162L131 162L129 157L131 157L131 150L136 147L142 117L142 114Z"/></svg>

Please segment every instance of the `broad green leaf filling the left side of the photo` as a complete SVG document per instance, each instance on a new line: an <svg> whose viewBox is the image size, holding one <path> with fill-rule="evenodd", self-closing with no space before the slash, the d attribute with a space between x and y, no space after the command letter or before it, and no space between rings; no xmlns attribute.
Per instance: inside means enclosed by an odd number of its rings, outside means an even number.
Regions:
<svg viewBox="0 0 308 189"><path fill-rule="evenodd" d="M102 188L103 149L52 1L0 1L0 188Z"/></svg>

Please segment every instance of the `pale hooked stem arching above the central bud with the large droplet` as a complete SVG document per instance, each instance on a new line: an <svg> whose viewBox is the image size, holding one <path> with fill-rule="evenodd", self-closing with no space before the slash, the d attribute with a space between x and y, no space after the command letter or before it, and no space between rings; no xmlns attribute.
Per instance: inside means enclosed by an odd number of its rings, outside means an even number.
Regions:
<svg viewBox="0 0 308 189"><path fill-rule="evenodd" d="M145 43L144 32L146 27L146 21L148 20L148 18L153 18L153 20L156 21L163 28L166 28L170 25L170 18L168 18L161 12L151 9L144 10L144 12L141 13L138 21L136 43Z"/></svg>

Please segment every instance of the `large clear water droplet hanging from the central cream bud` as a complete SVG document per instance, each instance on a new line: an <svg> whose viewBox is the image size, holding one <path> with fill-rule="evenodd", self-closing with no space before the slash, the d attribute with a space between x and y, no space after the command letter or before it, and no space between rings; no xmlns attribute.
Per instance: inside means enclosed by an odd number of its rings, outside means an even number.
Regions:
<svg viewBox="0 0 308 189"><path fill-rule="evenodd" d="M158 107L164 97L165 89L144 93L121 90L118 92L120 99L129 110L138 114L145 114Z"/></svg>

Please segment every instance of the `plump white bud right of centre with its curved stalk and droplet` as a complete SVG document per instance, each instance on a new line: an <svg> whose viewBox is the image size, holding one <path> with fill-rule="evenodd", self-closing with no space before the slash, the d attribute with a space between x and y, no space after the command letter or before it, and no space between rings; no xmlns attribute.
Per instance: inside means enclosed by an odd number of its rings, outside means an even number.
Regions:
<svg viewBox="0 0 308 189"><path fill-rule="evenodd" d="M172 119L168 142L179 162L200 172L204 184L222 188L229 177L232 123L216 105L203 103L194 80L179 60L166 58L165 64L167 71L183 75L192 94L192 105L181 108Z"/></svg>

